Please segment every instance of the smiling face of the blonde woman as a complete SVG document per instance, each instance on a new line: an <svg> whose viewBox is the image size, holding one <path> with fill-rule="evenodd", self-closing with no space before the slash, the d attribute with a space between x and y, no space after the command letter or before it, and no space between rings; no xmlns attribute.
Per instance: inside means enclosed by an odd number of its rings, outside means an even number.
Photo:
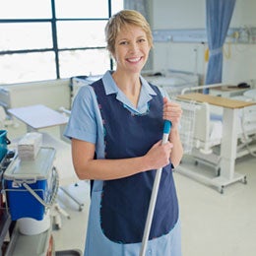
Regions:
<svg viewBox="0 0 256 256"><path fill-rule="evenodd" d="M140 73L147 62L150 49L146 32L137 26L124 27L115 40L113 56L117 65L116 70Z"/></svg>

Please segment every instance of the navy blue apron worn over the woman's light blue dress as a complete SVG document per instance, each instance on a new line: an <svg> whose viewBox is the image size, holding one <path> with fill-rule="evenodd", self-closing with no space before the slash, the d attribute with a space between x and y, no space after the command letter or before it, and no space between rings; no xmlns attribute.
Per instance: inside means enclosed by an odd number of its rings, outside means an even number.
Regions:
<svg viewBox="0 0 256 256"><path fill-rule="evenodd" d="M102 80L92 85L105 130L105 159L144 156L162 137L162 96L149 102L149 111L136 115L116 99L105 95ZM122 170L120 170L122 171ZM156 169L103 182L100 225L108 239L118 243L141 242ZM171 164L162 168L160 190L149 239L167 234L178 220L178 203Z"/></svg>

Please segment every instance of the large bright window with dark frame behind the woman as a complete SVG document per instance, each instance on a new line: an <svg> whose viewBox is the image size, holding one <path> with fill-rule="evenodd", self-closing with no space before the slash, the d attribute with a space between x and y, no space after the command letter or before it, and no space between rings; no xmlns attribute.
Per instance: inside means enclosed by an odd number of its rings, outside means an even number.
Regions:
<svg viewBox="0 0 256 256"><path fill-rule="evenodd" d="M1 1L0 84L99 75L113 68L104 27L121 9L122 0Z"/></svg>

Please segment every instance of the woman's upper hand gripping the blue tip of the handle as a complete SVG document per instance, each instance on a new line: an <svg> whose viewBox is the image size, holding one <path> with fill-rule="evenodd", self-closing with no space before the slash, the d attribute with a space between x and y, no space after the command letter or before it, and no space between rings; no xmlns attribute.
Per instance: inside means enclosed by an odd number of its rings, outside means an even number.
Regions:
<svg viewBox="0 0 256 256"><path fill-rule="evenodd" d="M171 102L167 97L163 97L163 114L164 120L168 120L172 124L172 128L176 128L182 114L181 106L176 102Z"/></svg>

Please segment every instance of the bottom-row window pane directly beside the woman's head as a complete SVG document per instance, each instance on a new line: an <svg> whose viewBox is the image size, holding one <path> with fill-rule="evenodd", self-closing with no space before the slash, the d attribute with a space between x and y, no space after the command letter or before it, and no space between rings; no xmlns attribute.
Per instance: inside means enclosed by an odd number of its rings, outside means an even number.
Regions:
<svg viewBox="0 0 256 256"><path fill-rule="evenodd" d="M109 54L105 49L63 51L59 62L61 78L101 75L109 69Z"/></svg>

